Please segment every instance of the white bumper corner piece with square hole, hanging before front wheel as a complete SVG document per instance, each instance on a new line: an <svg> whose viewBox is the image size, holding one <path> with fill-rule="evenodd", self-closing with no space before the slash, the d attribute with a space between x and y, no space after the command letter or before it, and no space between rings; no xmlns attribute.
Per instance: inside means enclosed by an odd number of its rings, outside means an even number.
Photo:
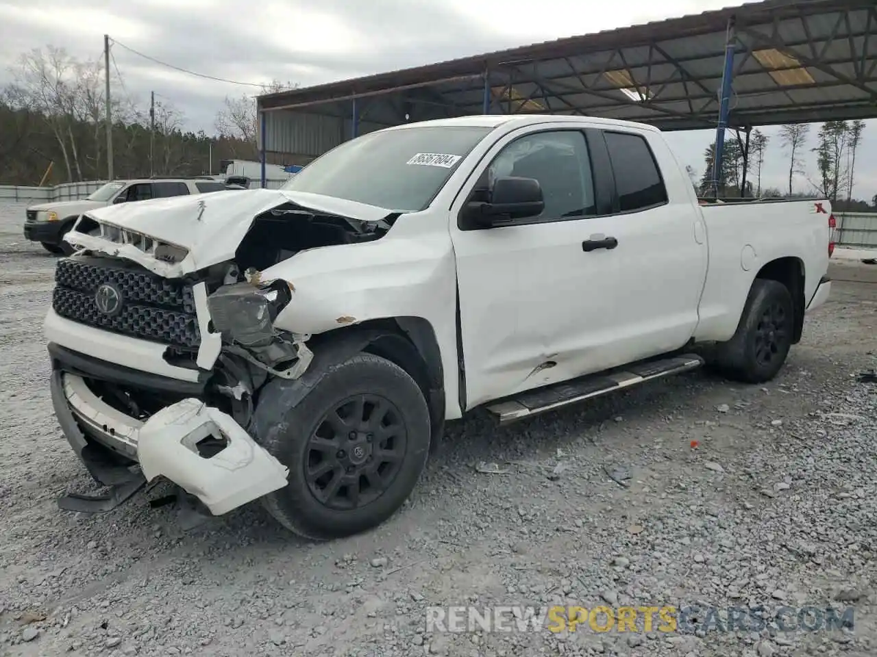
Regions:
<svg viewBox="0 0 877 657"><path fill-rule="evenodd" d="M221 515L287 484L289 470L230 415L198 399L155 413L139 430L140 468L163 476Z"/></svg>

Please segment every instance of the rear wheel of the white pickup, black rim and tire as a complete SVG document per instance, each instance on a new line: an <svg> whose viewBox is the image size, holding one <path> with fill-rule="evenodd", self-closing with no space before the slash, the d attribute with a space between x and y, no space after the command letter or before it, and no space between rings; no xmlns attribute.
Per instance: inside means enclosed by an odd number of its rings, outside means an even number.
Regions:
<svg viewBox="0 0 877 657"><path fill-rule="evenodd" d="M795 329L795 306L788 287L755 279L737 332L717 345L716 365L725 377L749 384L774 378L788 357Z"/></svg>

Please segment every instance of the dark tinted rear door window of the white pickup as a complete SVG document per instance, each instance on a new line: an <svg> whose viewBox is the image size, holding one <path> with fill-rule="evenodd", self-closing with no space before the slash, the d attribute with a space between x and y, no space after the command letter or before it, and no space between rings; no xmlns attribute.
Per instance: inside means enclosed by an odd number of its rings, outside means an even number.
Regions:
<svg viewBox="0 0 877 657"><path fill-rule="evenodd" d="M667 202L667 187L645 138L628 132L604 132L615 173L621 212Z"/></svg>

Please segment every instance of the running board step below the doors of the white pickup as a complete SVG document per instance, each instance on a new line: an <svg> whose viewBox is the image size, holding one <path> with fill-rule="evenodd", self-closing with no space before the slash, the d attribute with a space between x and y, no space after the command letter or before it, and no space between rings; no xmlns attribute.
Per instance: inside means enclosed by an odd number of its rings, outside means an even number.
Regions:
<svg viewBox="0 0 877 657"><path fill-rule="evenodd" d="M561 406L569 406L583 399L591 399L684 371L695 370L703 364L702 357L695 354L645 361L624 365L617 370L574 378L555 385L521 392L487 406L500 425L531 417Z"/></svg>

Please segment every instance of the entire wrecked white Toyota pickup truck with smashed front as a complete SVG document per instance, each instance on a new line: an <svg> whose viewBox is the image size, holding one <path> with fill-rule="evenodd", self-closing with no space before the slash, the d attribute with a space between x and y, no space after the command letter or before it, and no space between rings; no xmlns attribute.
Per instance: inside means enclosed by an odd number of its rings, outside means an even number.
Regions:
<svg viewBox="0 0 877 657"><path fill-rule="evenodd" d="M124 204L65 239L45 323L95 512L165 477L330 539L388 519L446 420L688 371L773 378L829 296L827 201L699 201L660 131L462 117L279 190Z"/></svg>

